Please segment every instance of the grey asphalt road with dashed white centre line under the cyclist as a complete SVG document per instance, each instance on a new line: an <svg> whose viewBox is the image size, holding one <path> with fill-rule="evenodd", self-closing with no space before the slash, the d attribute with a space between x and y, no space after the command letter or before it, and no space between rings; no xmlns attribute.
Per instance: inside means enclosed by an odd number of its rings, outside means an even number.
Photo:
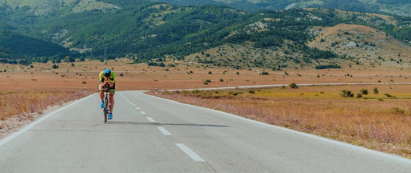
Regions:
<svg viewBox="0 0 411 173"><path fill-rule="evenodd" d="M142 91L98 95L0 140L1 173L410 173L411 160Z"/></svg>

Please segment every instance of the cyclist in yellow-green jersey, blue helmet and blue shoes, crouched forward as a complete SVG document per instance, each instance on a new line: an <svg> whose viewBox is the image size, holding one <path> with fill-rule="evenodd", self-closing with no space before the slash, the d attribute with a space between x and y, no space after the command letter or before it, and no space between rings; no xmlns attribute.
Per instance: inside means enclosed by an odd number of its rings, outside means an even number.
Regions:
<svg viewBox="0 0 411 173"><path fill-rule="evenodd" d="M100 108L104 107L104 88L106 85L109 86L109 105L110 113L109 119L113 119L113 108L114 108L114 92L116 91L116 73L112 72L110 69L104 69L99 74L100 85L98 86L98 91L101 98Z"/></svg>

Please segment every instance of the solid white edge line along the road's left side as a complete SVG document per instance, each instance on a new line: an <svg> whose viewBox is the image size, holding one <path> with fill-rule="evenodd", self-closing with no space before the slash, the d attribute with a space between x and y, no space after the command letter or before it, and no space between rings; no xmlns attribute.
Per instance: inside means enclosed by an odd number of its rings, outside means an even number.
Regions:
<svg viewBox="0 0 411 173"><path fill-rule="evenodd" d="M94 93L94 94L97 94L97 93ZM18 130L18 131L16 131L16 132L10 134L9 136L7 136L7 137L5 137L5 138L3 138L3 139L0 140L0 146L3 145L3 144L5 144L5 143L7 143L8 141L14 139L14 138L17 137L18 135L20 135L20 134L22 134L22 133L30 130L31 128L33 128L33 127L36 126L37 124L41 123L42 121L46 120L47 118L53 116L53 115L56 114L57 112L62 111L62 110L64 110L64 109L68 108L68 107L71 107L72 105L74 105L74 104L76 104L76 103L78 103L78 102L80 102L80 101L82 101L82 100L84 100L84 99L87 99L88 97L91 97L91 96L94 95L94 94L91 94L91 95L89 95L89 96L87 96L87 97L81 98L81 99L79 99L79 100L77 100L77 101L72 102L71 104L69 104L69 105L67 105L67 106L65 106L65 107L62 107L62 108L60 108L60 109L58 109L58 110L55 110L55 111L53 111L53 112L51 112L51 113L49 113L49 114L41 117L41 118L38 119L37 121L35 121L35 122L27 125L27 126L24 127L23 129Z"/></svg>

